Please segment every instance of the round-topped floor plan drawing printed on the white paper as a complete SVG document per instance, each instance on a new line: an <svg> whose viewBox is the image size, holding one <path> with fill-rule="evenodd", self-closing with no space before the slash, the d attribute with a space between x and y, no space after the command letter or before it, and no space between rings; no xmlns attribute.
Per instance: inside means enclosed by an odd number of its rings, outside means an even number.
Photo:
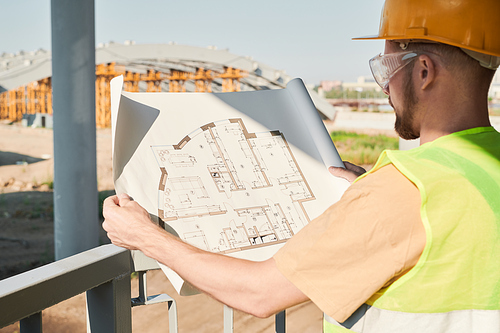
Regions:
<svg viewBox="0 0 500 333"><path fill-rule="evenodd" d="M151 148L158 216L194 246L231 253L282 243L309 222L304 203L315 197L279 131L249 133L227 119Z"/></svg>

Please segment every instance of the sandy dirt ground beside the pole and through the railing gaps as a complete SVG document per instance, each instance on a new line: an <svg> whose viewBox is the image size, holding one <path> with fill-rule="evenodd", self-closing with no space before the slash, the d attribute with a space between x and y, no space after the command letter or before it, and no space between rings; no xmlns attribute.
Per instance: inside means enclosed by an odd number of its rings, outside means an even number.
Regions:
<svg viewBox="0 0 500 333"><path fill-rule="evenodd" d="M111 130L97 130L98 190L113 192ZM0 124L0 279L49 263L53 243L52 130ZM105 242L105 239L102 240ZM137 279L132 278L133 296ZM206 295L177 295L160 271L148 273L150 295L167 293L178 306L179 332L222 332L223 306ZM132 310L134 332L168 331L165 304ZM0 314L1 315L1 314ZM44 332L86 332L85 295L43 311ZM287 310L287 332L320 332L322 314L311 302ZM274 318L257 319L236 312L235 332L274 332ZM0 333L19 332L19 323Z"/></svg>

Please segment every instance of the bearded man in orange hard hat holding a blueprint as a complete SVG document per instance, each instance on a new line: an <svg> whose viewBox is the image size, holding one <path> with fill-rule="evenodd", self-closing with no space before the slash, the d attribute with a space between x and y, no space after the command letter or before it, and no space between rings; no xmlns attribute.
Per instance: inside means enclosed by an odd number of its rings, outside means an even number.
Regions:
<svg viewBox="0 0 500 333"><path fill-rule="evenodd" d="M201 291L258 317L308 299L326 332L500 331L500 134L487 94L500 63L497 0L387 0L370 60L396 130L421 146L384 152L342 199L264 262L207 253L127 195L103 227ZM339 324L341 323L341 324Z"/></svg>

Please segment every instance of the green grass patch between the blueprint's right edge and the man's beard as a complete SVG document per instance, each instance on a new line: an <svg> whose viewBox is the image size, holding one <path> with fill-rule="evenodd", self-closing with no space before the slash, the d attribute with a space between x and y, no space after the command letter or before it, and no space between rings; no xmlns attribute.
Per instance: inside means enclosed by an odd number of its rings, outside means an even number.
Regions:
<svg viewBox="0 0 500 333"><path fill-rule="evenodd" d="M333 131L330 136L340 157L357 165L374 164L384 149L398 149L399 139L383 134L368 135Z"/></svg>

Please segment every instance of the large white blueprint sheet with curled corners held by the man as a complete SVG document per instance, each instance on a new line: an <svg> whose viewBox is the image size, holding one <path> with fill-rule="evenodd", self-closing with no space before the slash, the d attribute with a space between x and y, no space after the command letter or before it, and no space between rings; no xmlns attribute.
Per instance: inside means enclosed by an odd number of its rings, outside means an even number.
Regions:
<svg viewBox="0 0 500 333"><path fill-rule="evenodd" d="M266 260L348 186L329 174L288 88L119 93L122 83L111 82L116 191L196 247ZM160 267L180 294L194 292Z"/></svg>

